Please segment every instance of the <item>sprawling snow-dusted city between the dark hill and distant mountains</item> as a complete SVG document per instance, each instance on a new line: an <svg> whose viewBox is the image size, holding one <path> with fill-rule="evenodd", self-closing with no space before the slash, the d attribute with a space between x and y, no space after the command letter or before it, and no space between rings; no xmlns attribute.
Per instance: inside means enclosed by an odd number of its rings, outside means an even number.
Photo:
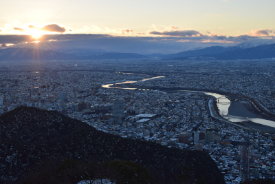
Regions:
<svg viewBox="0 0 275 184"><path fill-rule="evenodd" d="M14 61L0 68L0 114L22 105L55 110L110 134L208 152L226 183L275 180L275 126L230 122L206 94L246 96L273 114L272 60Z"/></svg>

